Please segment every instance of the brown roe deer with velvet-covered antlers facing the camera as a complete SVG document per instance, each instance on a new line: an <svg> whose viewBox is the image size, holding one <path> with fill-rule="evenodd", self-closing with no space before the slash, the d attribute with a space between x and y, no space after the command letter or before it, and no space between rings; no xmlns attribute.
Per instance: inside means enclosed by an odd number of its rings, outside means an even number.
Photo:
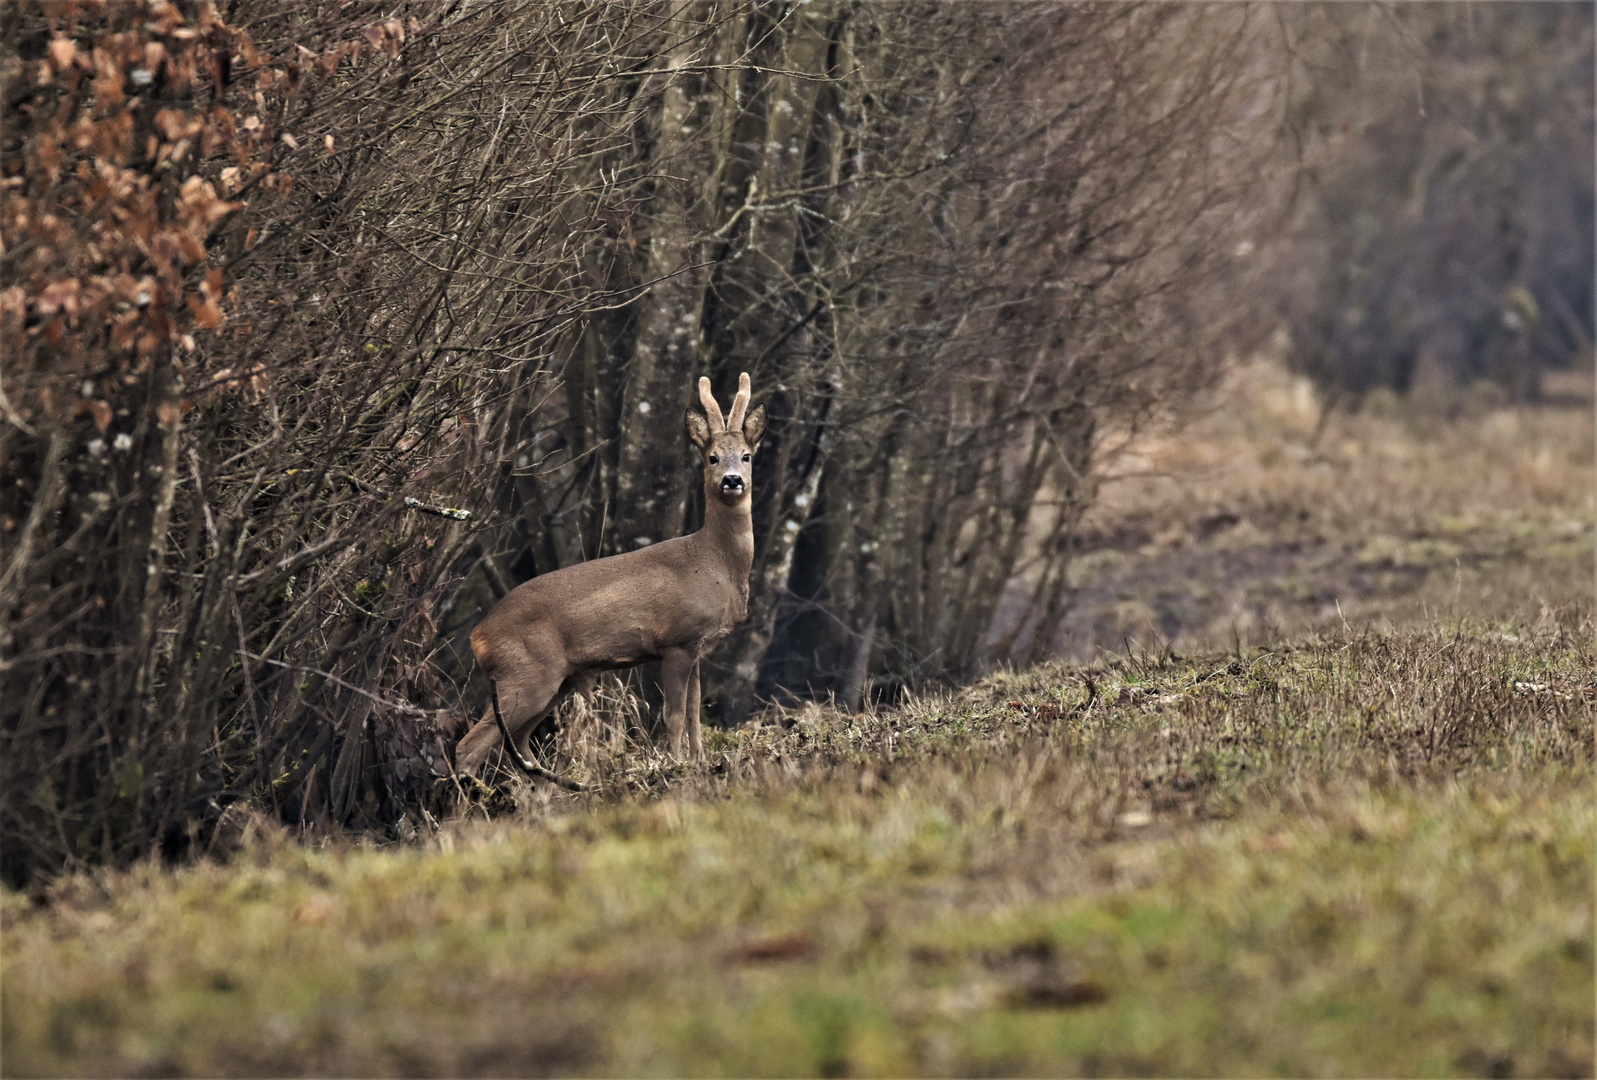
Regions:
<svg viewBox="0 0 1597 1080"><path fill-rule="evenodd" d="M516 764L561 783L529 760L545 716L564 693L585 693L599 673L645 660L663 661L671 752L682 754L685 724L693 757L704 756L698 665L749 613L749 489L765 406L749 412L747 374L738 375L738 396L725 419L709 379L699 379L699 401L704 409L688 407L687 428L704 459L704 527L535 577L489 612L471 633L471 652L489 677L493 703L455 749L462 772L476 772L508 741Z"/></svg>

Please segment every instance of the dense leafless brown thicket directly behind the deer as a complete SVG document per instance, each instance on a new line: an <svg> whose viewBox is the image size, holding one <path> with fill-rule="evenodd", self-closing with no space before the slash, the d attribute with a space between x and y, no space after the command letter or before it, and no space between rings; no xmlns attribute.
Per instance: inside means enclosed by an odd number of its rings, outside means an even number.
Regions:
<svg viewBox="0 0 1597 1080"><path fill-rule="evenodd" d="M465 634L696 527L698 375L771 412L722 722L1025 658L1099 446L1233 324L1260 24L8 5L5 876L471 797Z"/></svg>

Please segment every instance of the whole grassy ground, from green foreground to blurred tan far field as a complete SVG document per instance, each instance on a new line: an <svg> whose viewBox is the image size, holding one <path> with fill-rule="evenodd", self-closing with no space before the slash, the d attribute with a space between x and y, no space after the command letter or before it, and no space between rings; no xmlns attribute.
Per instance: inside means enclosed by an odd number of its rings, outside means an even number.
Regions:
<svg viewBox="0 0 1597 1080"><path fill-rule="evenodd" d="M6 891L0 1072L1591 1075L1589 379L1311 444L1244 374L1116 462L1072 660Z"/></svg>

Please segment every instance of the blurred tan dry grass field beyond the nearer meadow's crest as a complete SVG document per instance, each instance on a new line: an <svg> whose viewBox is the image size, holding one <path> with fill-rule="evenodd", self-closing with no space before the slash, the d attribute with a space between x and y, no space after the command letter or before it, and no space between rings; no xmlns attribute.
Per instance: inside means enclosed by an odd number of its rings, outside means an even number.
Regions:
<svg viewBox="0 0 1597 1080"><path fill-rule="evenodd" d="M1199 420L1135 439L1092 508L1056 650L1265 644L1348 626L1532 618L1594 593L1592 374L1555 404L1490 390L1452 415L1375 395L1338 409L1271 363Z"/></svg>

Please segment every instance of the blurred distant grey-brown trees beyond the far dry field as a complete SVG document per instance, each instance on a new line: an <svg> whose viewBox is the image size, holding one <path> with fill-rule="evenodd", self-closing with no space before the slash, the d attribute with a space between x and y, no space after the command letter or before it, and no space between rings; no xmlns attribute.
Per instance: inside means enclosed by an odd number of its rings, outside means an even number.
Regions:
<svg viewBox="0 0 1597 1080"><path fill-rule="evenodd" d="M1493 380L1592 350L1592 8L1281 8L1290 211L1262 256L1333 395Z"/></svg>

